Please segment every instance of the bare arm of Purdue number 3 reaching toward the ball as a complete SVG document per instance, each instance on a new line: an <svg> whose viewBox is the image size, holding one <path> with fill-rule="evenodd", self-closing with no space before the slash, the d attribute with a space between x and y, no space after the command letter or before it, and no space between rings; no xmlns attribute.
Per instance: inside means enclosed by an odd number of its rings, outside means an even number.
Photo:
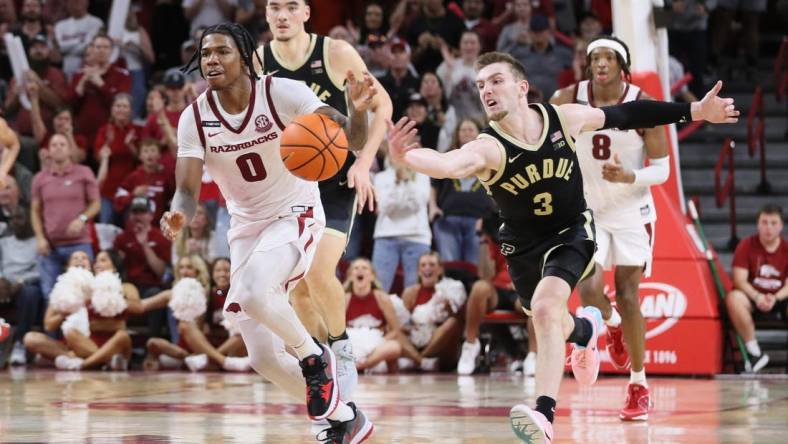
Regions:
<svg viewBox="0 0 788 444"><path fill-rule="evenodd" d="M396 124L389 121L388 126L391 160L430 177L461 179L481 175L500 164L500 152L488 140L477 139L460 149L440 153L431 148L419 147L416 122L407 117Z"/></svg>

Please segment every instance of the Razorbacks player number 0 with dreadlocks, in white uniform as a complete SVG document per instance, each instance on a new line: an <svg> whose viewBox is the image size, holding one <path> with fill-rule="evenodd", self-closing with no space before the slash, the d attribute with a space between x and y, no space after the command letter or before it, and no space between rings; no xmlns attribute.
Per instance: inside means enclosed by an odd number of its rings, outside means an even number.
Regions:
<svg viewBox="0 0 788 444"><path fill-rule="evenodd" d="M372 422L339 400L331 348L309 336L288 302L309 269L325 216L317 183L290 174L279 147L285 125L309 113L338 122L352 146L362 146L376 90L369 74L357 80L351 73L346 118L301 82L257 76L254 49L241 26L219 24L203 32L184 67L199 69L209 88L181 113L177 189L161 227L172 238L194 217L205 166L231 217L232 285L223 312L241 331L252 367L296 398L306 392L309 417L331 424L321 441L359 443L372 434Z"/></svg>

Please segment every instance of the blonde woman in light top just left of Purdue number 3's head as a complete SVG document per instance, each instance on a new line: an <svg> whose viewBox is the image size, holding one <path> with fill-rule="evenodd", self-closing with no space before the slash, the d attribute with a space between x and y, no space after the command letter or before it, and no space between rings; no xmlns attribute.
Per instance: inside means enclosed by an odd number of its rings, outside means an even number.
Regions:
<svg viewBox="0 0 788 444"><path fill-rule="evenodd" d="M457 119L466 117L484 119L482 102L479 100L479 91L476 88L476 71L473 68L473 64L481 52L479 35L474 31L462 33L460 57L458 58L454 57L447 46L444 45L442 50L443 62L438 66L436 74L443 81L449 106L454 108ZM439 125L443 126L443 123Z"/></svg>

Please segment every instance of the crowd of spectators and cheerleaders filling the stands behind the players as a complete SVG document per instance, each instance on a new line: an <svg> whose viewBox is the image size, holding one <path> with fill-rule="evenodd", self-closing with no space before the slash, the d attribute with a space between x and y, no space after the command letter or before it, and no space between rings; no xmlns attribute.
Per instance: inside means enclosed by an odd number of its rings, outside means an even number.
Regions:
<svg viewBox="0 0 788 444"><path fill-rule="evenodd" d="M707 53L725 50L705 47L711 3L669 6L677 68L693 74L685 99L705 91ZM727 3L718 14L729 20ZM266 1L132 0L119 39L107 34L109 1L0 4L0 28L21 38L30 65L23 82L14 78L0 43L0 316L15 327L11 364L125 369L142 348L146 369L248 370L237 332L221 318L229 214L211 178L203 176L197 215L174 241L158 223L174 193L179 115L207 87L199 71L179 67L206 26L237 21L270 41ZM416 121L422 145L440 151L473 140L484 124L473 70L480 53L512 54L528 72L529 101L542 101L584 78L586 42L612 29L610 0L310 4L307 29L353 44L391 96L394 119ZM756 32L747 45L757 45L758 12L747 11ZM373 170L377 209L357 218L341 272L348 324L375 344L357 347L359 368L454 370L461 345L478 355L485 313L517 310L494 236L480 223L493 203L476 178L430 180L390 164L385 146ZM473 271L448 279L443 264L453 263ZM54 289L71 282L72 268L95 274L94 286L105 271L117 275L125 308L108 316L86 302L58 311ZM185 300L203 293L202 313L177 316L184 279Z"/></svg>

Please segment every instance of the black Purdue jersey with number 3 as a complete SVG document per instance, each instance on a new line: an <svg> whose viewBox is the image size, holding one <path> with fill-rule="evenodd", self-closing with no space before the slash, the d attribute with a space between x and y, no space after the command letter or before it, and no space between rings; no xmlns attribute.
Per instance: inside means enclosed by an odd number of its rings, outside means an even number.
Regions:
<svg viewBox="0 0 788 444"><path fill-rule="evenodd" d="M557 232L586 210L583 177L572 138L553 105L531 104L542 116L533 145L506 133L496 122L482 130L501 150L501 166L482 181L500 208L504 224L518 233Z"/></svg>

